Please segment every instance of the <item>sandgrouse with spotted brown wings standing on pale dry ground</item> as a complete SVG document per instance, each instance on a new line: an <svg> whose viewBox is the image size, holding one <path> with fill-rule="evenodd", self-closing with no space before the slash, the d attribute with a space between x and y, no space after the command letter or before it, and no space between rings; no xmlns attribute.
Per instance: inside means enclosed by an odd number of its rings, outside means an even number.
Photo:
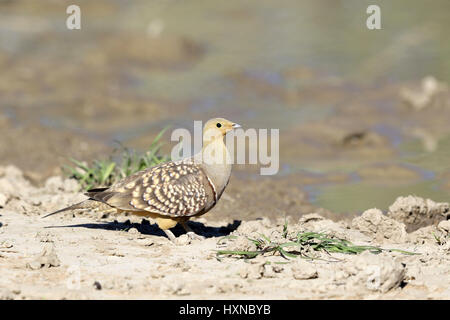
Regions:
<svg viewBox="0 0 450 320"><path fill-rule="evenodd" d="M202 150L194 156L139 171L108 188L88 190L88 199L43 218L73 209L115 209L155 219L172 241L175 236L169 229L177 223L190 238L203 238L186 222L219 201L232 165L223 140L227 132L239 127L223 118L211 119L203 128Z"/></svg>

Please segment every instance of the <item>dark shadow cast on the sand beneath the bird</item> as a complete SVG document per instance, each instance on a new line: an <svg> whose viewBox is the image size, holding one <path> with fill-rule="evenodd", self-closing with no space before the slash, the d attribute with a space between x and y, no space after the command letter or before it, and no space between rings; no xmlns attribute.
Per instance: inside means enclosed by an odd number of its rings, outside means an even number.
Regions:
<svg viewBox="0 0 450 320"><path fill-rule="evenodd" d="M197 221L189 221L188 224L196 234L204 236L205 238L214 238L229 235L241 225L241 221L233 220L233 223L229 223L228 225L221 227L209 227ZM131 228L136 228L142 234L166 237L166 234L158 227L156 223L152 224L147 219L143 219L141 223L131 223L130 220L125 222L118 222L115 220L114 222L106 223L82 223L64 226L48 226L45 228L89 228L112 231L128 231ZM186 233L186 231L184 231L179 224L171 230L176 237Z"/></svg>

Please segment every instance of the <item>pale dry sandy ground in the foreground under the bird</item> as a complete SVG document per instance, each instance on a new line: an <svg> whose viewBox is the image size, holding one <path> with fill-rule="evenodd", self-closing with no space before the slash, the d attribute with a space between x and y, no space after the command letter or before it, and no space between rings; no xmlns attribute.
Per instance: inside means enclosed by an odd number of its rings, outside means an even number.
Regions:
<svg viewBox="0 0 450 320"><path fill-rule="evenodd" d="M397 251L359 255L305 249L317 259L217 257L217 250L254 250L247 237L283 241L284 219L191 222L205 240L181 228L170 242L156 225L133 216L44 213L79 201L73 180L34 187L22 172L0 168L0 297L2 299L449 299L447 203L400 197L382 213L332 221L311 212L288 216L288 237L321 231L355 244ZM233 194L222 202L231 201ZM211 212L217 216L217 210ZM415 227L416 226L416 227ZM232 235L231 238L223 238Z"/></svg>

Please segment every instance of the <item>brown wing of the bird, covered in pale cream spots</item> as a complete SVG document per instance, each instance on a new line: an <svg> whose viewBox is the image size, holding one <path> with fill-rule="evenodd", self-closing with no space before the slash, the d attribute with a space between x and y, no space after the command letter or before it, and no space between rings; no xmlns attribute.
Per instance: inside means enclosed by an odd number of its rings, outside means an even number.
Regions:
<svg viewBox="0 0 450 320"><path fill-rule="evenodd" d="M214 199L203 169L185 161L167 162L138 172L90 196L122 210L171 217L195 215Z"/></svg>

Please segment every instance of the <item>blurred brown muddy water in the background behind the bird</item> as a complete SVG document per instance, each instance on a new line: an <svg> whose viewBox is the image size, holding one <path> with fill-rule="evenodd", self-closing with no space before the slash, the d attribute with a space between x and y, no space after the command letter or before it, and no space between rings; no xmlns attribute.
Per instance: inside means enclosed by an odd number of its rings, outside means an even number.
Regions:
<svg viewBox="0 0 450 320"><path fill-rule="evenodd" d="M69 31L70 1L0 1L2 163L50 174L220 115L279 128L277 178L316 206L448 201L450 110L399 98L427 75L450 82L448 1L377 1L377 31L373 1L77 3L82 29Z"/></svg>

